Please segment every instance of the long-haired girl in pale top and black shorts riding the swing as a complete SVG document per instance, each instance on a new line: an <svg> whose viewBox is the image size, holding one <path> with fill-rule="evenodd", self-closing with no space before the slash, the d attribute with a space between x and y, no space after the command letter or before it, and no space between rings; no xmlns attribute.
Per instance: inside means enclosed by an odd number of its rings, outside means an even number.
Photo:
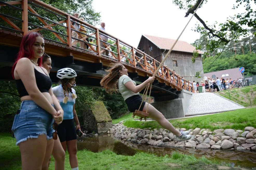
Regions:
<svg viewBox="0 0 256 170"><path fill-rule="evenodd" d="M107 93L119 92L122 94L128 109L130 112L139 110L140 104L142 102L142 97L139 92L142 91L149 83L152 83L155 77L149 77L145 82L136 86L136 83L128 77L128 70L121 63L112 64L109 70L106 70L107 75L103 77L100 81L100 85L106 89ZM148 108L147 108L148 105ZM190 131L178 131L173 127L173 125L167 121L164 115L159 112L152 105L143 101L140 111L149 113L149 117L156 120L165 129L171 131L176 135L176 141L186 141L191 139L191 135L187 135Z"/></svg>

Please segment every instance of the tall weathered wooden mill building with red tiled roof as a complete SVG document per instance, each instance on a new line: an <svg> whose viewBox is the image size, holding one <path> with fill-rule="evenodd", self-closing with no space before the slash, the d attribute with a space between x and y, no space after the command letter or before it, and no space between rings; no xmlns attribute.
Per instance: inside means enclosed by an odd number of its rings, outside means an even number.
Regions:
<svg viewBox="0 0 256 170"><path fill-rule="evenodd" d="M168 38L142 35L138 49L161 62L174 42L175 40ZM195 74L199 71L201 77L204 75L201 58L201 55L204 53L199 50L199 56L196 58L196 62L192 63L191 59L195 49L194 46L185 41L178 41L165 60L164 65L167 65L171 70L175 70L178 75L183 76L186 80L200 82L203 78L196 78Z"/></svg>

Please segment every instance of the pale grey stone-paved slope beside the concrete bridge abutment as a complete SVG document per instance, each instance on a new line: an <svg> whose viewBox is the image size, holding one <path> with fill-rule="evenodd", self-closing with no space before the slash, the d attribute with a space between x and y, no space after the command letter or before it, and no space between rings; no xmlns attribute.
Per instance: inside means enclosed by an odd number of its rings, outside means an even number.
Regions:
<svg viewBox="0 0 256 170"><path fill-rule="evenodd" d="M214 93L195 93L192 95L186 116L219 113L245 108Z"/></svg>

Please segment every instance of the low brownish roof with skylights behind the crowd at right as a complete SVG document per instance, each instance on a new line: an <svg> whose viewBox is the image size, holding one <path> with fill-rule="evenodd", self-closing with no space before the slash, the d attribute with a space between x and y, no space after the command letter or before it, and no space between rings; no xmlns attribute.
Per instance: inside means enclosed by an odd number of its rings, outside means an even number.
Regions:
<svg viewBox="0 0 256 170"><path fill-rule="evenodd" d="M212 75L215 75L216 77L222 77L222 75L228 74L228 76L223 77L226 79L232 79L237 80L238 78L242 78L242 73L239 71L239 67L233 68L233 69L227 69L227 70L221 70L221 71L214 71L210 73L204 73L204 76L206 77L212 77Z"/></svg>

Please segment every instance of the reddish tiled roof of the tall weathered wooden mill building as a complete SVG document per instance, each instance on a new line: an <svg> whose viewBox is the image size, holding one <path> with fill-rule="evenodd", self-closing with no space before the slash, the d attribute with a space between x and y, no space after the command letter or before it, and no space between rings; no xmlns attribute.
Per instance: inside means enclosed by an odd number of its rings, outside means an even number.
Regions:
<svg viewBox="0 0 256 170"><path fill-rule="evenodd" d="M171 49L172 45L176 40L169 39L169 38L162 38L152 35L143 35L147 39L149 39L151 42L153 42L156 46L158 46L160 49ZM193 51L196 49L196 47L192 46L191 44L185 42L185 41L178 41L176 45L173 48L173 51L182 51L182 52L188 52L193 53ZM203 51L198 50L199 54L204 54Z"/></svg>

